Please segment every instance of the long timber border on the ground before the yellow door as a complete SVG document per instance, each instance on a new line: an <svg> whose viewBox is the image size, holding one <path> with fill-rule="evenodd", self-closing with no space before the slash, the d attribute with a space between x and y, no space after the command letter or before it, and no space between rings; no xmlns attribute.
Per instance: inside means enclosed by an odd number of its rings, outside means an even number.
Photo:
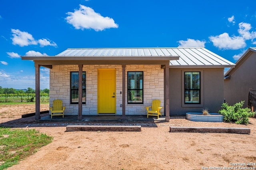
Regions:
<svg viewBox="0 0 256 170"><path fill-rule="evenodd" d="M141 126L68 125L66 131L141 131Z"/></svg>

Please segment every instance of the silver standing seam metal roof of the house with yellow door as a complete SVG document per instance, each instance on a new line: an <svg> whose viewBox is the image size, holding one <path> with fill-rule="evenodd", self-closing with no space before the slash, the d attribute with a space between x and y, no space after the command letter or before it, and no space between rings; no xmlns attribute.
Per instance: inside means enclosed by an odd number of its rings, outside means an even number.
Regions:
<svg viewBox="0 0 256 170"><path fill-rule="evenodd" d="M68 48L56 56L69 57L112 57L138 56L160 57L180 56L179 60L170 60L171 66L219 66L234 67L234 63L220 57L204 47L176 48Z"/></svg>

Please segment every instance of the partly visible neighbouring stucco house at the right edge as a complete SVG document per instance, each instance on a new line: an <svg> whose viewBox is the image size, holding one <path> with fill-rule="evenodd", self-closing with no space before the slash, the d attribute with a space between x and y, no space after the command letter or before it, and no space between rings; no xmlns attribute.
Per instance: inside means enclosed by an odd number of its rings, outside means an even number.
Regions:
<svg viewBox="0 0 256 170"><path fill-rule="evenodd" d="M236 66L224 74L224 97L229 105L245 101L247 107L249 89L256 89L256 47L248 48L236 61Z"/></svg>

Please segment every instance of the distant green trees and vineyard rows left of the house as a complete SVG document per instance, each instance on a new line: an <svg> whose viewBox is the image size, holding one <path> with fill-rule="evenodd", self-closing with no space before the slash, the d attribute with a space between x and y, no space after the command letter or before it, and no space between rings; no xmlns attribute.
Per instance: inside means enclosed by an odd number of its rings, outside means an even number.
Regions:
<svg viewBox="0 0 256 170"><path fill-rule="evenodd" d="M40 90L40 99L42 102L48 102L49 89ZM34 102L36 91L31 87L28 89L17 90L14 88L2 88L0 86L0 102Z"/></svg>

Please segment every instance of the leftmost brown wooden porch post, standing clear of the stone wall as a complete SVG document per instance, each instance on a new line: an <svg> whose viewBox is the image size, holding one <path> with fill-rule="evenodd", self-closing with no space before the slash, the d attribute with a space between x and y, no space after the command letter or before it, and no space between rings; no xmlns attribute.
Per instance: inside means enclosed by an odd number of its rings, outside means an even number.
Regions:
<svg viewBox="0 0 256 170"><path fill-rule="evenodd" d="M40 65L35 64L36 68L36 115L35 119L38 121L40 117Z"/></svg>

